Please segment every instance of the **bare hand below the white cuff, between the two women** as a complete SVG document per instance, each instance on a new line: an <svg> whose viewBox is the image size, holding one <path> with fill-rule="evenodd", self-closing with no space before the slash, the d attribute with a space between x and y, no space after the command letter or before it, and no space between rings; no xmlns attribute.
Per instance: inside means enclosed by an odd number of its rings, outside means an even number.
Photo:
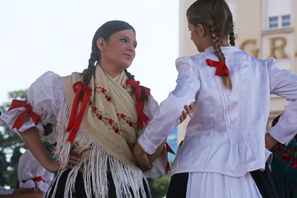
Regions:
<svg viewBox="0 0 297 198"><path fill-rule="evenodd" d="M153 167L152 164L149 164L148 155L146 151L140 146L140 144L136 143L134 145L133 154L136 159L137 165L143 172L147 172Z"/></svg>

